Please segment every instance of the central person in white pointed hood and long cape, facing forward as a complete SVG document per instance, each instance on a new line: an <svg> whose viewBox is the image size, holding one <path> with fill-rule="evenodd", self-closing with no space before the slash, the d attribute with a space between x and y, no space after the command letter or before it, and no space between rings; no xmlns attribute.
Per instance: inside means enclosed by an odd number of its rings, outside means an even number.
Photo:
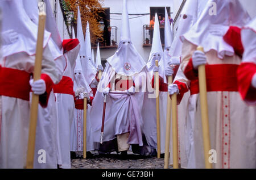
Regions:
<svg viewBox="0 0 256 180"><path fill-rule="evenodd" d="M148 103L146 81L151 77L147 78L146 62L131 43L126 0L123 1L120 40L117 52L107 59L90 111L93 139L100 152L116 151L125 157L132 145L134 153L152 154L156 149L156 142L152 138L156 131L153 119L143 116L148 110L143 108ZM148 86L151 87L150 83ZM104 136L100 144L105 96Z"/></svg>

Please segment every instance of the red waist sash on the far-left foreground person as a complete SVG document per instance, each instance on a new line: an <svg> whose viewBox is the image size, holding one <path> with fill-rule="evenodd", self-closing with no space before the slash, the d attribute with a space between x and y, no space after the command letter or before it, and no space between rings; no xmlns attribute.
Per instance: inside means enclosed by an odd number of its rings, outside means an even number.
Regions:
<svg viewBox="0 0 256 180"><path fill-rule="evenodd" d="M0 66L0 95L30 100L30 73Z"/></svg>

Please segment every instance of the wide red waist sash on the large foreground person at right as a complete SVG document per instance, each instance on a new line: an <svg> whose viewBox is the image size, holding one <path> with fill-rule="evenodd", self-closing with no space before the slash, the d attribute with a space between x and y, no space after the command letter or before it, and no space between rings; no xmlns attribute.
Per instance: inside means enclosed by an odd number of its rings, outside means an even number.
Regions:
<svg viewBox="0 0 256 180"><path fill-rule="evenodd" d="M236 64L205 65L207 91L238 91ZM190 85L192 94L199 93L199 79L192 79Z"/></svg>

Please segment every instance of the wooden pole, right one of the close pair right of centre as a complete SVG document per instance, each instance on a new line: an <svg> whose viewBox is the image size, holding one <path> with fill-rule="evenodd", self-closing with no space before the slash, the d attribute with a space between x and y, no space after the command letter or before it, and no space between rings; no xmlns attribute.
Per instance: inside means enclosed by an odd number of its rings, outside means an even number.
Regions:
<svg viewBox="0 0 256 180"><path fill-rule="evenodd" d="M172 161L173 168L179 168L178 143L177 143L177 94L172 95Z"/></svg>

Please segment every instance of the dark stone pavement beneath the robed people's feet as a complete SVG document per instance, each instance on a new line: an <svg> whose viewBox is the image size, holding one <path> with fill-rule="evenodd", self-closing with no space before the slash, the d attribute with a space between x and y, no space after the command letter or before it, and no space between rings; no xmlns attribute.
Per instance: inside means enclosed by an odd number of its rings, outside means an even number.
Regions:
<svg viewBox="0 0 256 180"><path fill-rule="evenodd" d="M77 153L82 156L82 153ZM138 154L128 152L127 160L121 160L119 154L98 154L97 151L92 152L93 157L76 158L71 160L71 168L73 169L163 169L164 158L143 157ZM172 166L169 166L172 168Z"/></svg>

